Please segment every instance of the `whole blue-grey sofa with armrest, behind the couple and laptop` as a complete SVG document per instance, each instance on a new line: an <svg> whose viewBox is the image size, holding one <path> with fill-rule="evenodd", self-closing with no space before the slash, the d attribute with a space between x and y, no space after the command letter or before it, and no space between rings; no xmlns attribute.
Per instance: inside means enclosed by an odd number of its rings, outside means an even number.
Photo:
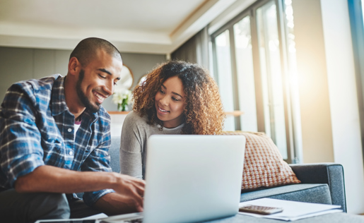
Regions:
<svg viewBox="0 0 364 223"><path fill-rule="evenodd" d="M112 171L115 172L120 171L119 147L120 137L112 137L109 153ZM341 164L290 164L290 167L301 183L242 192L240 202L258 198L275 198L341 205L342 210L346 212L344 169Z"/></svg>

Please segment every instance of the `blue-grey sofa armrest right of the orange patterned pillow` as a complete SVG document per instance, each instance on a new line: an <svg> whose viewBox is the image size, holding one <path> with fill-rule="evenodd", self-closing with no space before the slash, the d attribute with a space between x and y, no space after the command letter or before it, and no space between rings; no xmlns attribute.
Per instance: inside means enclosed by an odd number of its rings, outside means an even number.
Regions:
<svg viewBox="0 0 364 223"><path fill-rule="evenodd" d="M333 205L341 205L346 212L344 168L341 164L290 164L302 183L327 183Z"/></svg>

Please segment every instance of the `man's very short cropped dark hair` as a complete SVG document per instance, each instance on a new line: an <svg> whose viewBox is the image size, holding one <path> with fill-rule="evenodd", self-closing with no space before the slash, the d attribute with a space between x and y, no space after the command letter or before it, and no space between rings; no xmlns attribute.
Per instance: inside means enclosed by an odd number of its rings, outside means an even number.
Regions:
<svg viewBox="0 0 364 223"><path fill-rule="evenodd" d="M90 61L95 58L98 49L103 49L110 56L119 59L120 61L122 60L122 55L120 54L117 47L107 40L96 37L90 37L81 40L81 42L79 42L75 47L74 51L71 52L69 59L76 57L82 66L87 66Z"/></svg>

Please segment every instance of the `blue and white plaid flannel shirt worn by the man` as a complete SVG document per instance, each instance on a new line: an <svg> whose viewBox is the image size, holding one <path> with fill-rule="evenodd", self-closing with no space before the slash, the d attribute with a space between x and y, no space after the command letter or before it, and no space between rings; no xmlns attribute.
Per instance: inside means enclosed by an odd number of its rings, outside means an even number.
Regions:
<svg viewBox="0 0 364 223"><path fill-rule="evenodd" d="M74 115L64 97L64 77L15 83L0 108L0 186L13 188L19 176L42 165L75 171L111 171L110 115L86 109L74 138ZM93 205L111 189L86 192Z"/></svg>

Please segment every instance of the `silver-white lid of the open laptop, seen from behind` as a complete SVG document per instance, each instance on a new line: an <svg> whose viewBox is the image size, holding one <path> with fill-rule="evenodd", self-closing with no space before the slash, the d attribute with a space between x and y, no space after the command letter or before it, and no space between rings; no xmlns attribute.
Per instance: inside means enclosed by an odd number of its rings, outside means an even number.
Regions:
<svg viewBox="0 0 364 223"><path fill-rule="evenodd" d="M244 135L151 135L143 222L199 222L237 214Z"/></svg>

